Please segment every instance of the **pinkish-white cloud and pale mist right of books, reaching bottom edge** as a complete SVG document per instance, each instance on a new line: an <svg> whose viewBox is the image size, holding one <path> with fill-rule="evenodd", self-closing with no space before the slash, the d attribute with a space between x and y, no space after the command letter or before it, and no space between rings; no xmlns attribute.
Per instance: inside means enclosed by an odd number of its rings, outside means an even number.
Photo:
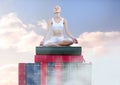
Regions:
<svg viewBox="0 0 120 85"><path fill-rule="evenodd" d="M93 63L92 85L120 85L120 32L85 32L78 41Z"/></svg>

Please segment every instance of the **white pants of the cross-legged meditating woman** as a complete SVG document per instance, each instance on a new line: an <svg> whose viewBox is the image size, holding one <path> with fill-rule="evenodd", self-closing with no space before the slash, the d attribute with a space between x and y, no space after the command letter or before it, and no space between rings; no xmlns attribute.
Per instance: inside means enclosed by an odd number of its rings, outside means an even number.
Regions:
<svg viewBox="0 0 120 85"><path fill-rule="evenodd" d="M58 43L58 42L61 42L63 40L69 40L69 41L73 42L72 39L70 39L70 38L64 38L64 36L60 36L60 37L53 36L49 40L47 40L47 41L44 42L44 46L46 46L49 43Z"/></svg>

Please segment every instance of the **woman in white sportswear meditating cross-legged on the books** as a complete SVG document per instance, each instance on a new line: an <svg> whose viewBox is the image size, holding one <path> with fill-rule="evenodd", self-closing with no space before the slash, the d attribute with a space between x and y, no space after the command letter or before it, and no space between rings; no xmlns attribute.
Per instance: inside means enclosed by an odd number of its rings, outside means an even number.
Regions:
<svg viewBox="0 0 120 85"><path fill-rule="evenodd" d="M69 45L72 45L73 43L78 43L77 39L75 39L68 31L66 19L60 16L61 7L58 5L55 6L53 12L54 12L54 17L49 20L48 32L44 36L40 45L42 46L69 46ZM49 40L45 41L46 38L50 34L50 30L52 30L53 32L52 37ZM65 30L65 33L67 34L69 39L64 38L63 30Z"/></svg>

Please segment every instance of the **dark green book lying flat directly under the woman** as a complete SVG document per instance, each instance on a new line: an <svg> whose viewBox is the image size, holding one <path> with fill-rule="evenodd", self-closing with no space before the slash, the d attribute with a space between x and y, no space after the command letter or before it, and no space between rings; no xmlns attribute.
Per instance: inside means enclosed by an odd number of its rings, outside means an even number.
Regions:
<svg viewBox="0 0 120 85"><path fill-rule="evenodd" d="M82 47L36 47L36 55L81 55Z"/></svg>

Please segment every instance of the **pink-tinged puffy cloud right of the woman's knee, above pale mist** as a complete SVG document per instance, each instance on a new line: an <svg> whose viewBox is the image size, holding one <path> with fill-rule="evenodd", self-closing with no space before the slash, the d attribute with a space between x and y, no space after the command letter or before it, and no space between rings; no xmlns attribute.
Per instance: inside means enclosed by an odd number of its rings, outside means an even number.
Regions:
<svg viewBox="0 0 120 85"><path fill-rule="evenodd" d="M85 32L78 37L83 54L104 56L120 49L120 32Z"/></svg>

